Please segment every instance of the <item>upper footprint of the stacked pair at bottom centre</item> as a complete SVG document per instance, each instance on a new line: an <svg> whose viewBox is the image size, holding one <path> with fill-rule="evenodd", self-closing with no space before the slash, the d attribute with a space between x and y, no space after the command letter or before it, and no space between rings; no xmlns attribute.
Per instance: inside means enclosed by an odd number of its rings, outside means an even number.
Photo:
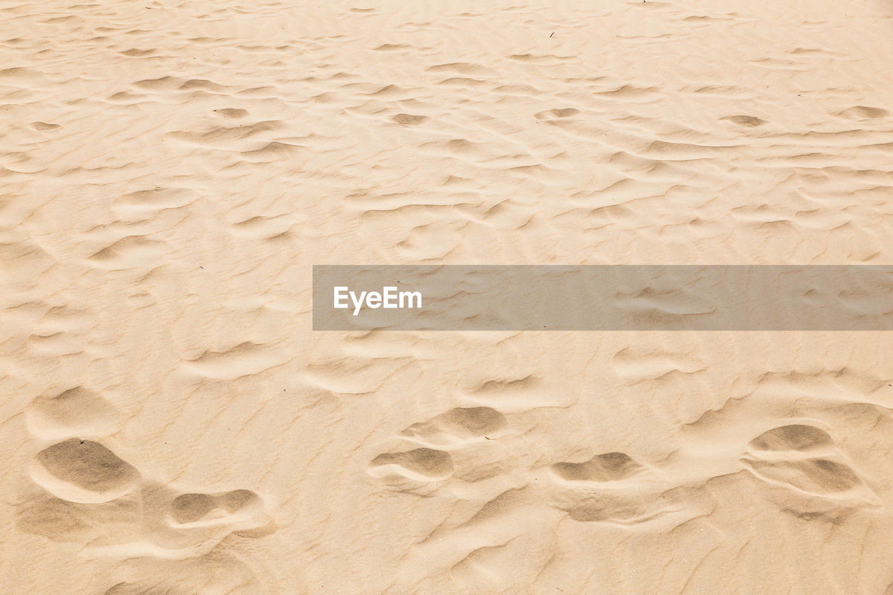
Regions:
<svg viewBox="0 0 893 595"><path fill-rule="evenodd" d="M428 422L413 423L400 438L431 446L451 446L491 438L505 427L505 415L492 407L456 407Z"/></svg>

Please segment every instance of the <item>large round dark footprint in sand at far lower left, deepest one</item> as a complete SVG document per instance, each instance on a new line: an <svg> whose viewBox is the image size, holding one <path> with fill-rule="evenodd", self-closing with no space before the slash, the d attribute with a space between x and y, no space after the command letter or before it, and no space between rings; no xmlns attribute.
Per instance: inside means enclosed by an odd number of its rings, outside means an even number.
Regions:
<svg viewBox="0 0 893 595"><path fill-rule="evenodd" d="M141 475L102 444L72 438L38 452L31 478L58 498L98 504L134 490Z"/></svg>

